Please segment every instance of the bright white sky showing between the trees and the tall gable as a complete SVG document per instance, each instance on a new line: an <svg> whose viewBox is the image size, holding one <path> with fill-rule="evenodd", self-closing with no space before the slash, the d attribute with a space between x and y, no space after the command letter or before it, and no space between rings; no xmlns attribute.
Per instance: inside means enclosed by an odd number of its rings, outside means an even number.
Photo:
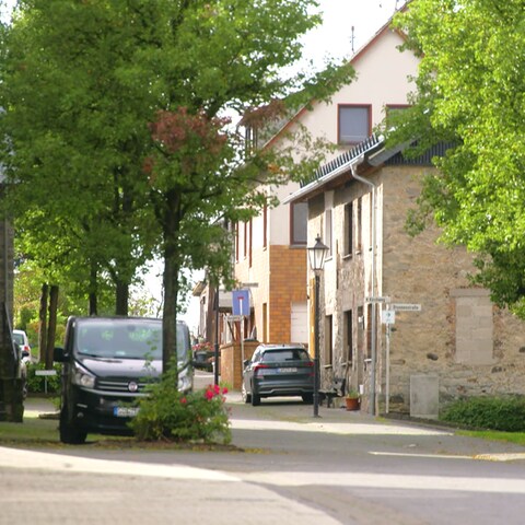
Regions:
<svg viewBox="0 0 525 525"><path fill-rule="evenodd" d="M0 0L0 18L4 19L15 0ZM326 58L351 58L399 9L402 0L318 0L323 24L305 35L303 56L320 68ZM4 19L5 20L5 19ZM352 31L353 27L353 31ZM353 42L352 42L353 39ZM145 290L159 301L162 298L162 264L155 264L147 279ZM199 276L194 276L197 280ZM179 316L191 330L199 322L196 298L188 298L188 310Z"/></svg>

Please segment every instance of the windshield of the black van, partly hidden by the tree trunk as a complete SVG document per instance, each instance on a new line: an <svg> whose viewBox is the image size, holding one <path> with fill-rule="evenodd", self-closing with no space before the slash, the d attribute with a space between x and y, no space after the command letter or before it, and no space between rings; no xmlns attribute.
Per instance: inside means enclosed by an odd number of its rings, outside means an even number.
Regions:
<svg viewBox="0 0 525 525"><path fill-rule="evenodd" d="M79 319L74 352L79 357L162 360L160 319ZM185 325L177 324L178 360L187 359L189 340Z"/></svg>

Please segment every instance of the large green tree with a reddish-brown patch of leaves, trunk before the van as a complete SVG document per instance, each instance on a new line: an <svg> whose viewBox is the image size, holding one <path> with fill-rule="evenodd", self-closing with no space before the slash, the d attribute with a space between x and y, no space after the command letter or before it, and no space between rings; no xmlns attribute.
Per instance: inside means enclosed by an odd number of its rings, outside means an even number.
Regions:
<svg viewBox="0 0 525 525"><path fill-rule="evenodd" d="M8 173L22 201L43 206L63 229L50 228L75 271L100 276L103 268L118 285L118 278L130 281L133 262L162 254L167 369L182 270L228 277L231 238L222 224L264 205L256 180L278 184L319 162L315 148L299 167L296 149L245 155L226 116L278 100L287 107L326 100L352 69L282 73L319 22L310 12L315 0L20 5L0 85ZM42 202L49 185L61 198Z"/></svg>

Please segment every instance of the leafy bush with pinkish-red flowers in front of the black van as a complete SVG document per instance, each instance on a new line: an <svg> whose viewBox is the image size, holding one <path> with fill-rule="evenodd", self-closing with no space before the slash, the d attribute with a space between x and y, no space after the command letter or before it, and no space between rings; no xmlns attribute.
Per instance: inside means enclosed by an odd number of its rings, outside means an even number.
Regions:
<svg viewBox="0 0 525 525"><path fill-rule="evenodd" d="M224 394L228 389L208 386L189 394L178 392L173 365L161 382L148 387L139 413L129 423L142 441L205 442L229 444L231 429Z"/></svg>

